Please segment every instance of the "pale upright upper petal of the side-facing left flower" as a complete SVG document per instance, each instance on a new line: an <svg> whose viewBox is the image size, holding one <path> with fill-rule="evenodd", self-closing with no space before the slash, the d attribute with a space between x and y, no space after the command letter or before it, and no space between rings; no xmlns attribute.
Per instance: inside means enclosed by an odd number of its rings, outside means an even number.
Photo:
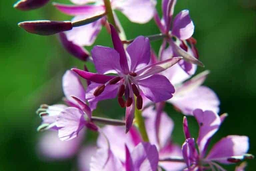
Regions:
<svg viewBox="0 0 256 171"><path fill-rule="evenodd" d="M77 102L71 96L76 96L85 101L84 87L75 72L71 70L67 70L65 72L62 78L62 88L68 101L77 104Z"/></svg>

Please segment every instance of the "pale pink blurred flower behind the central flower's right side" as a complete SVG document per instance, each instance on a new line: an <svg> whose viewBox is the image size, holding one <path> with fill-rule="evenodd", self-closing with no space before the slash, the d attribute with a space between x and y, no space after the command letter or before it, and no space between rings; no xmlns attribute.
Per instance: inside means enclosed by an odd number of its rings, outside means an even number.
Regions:
<svg viewBox="0 0 256 171"><path fill-rule="evenodd" d="M171 55L172 50L168 47L163 51L161 60L169 59ZM152 56L152 61L158 61L156 55ZM195 70L196 67L194 67L193 72L195 72ZM189 79L191 75L185 72L178 63L161 72L175 88L173 98L167 100L167 102L173 104L177 110L185 115L193 115L193 110L195 109L211 110L218 113L220 102L217 95L210 88L202 86L209 73L210 72L206 70L190 80L185 81Z"/></svg>

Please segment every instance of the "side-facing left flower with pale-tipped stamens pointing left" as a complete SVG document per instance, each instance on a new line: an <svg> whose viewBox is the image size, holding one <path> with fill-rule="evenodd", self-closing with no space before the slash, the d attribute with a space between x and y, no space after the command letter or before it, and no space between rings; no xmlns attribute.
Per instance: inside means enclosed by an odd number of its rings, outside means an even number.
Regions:
<svg viewBox="0 0 256 171"><path fill-rule="evenodd" d="M62 80L65 102L70 106L53 105L41 106L38 109L43 123L38 130L57 129L61 140L70 140L77 137L84 128L97 130L97 126L91 122L91 109L85 103L85 90L78 75L68 70Z"/></svg>

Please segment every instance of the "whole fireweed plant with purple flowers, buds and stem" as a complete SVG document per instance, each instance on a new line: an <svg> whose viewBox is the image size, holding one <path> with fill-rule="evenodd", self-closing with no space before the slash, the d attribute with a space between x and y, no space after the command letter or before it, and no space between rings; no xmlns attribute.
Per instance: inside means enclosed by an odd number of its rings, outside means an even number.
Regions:
<svg viewBox="0 0 256 171"><path fill-rule="evenodd" d="M49 0L20 0L19 10L40 8ZM78 155L81 171L224 171L222 164L252 159L247 136L229 135L213 145L211 137L227 114L218 115L219 99L202 86L209 71L196 76L199 61L194 24L189 10L173 15L176 0L162 0L162 18L155 0L71 0L74 5L53 3L61 12L74 16L71 21L26 21L18 25L38 35L58 34L63 47L74 57L93 62L96 73L72 68L62 79L64 104L41 105L38 131L39 150L49 159ZM147 23L154 19L159 34L127 40L114 10L131 22ZM113 47L96 45L89 53L84 46L94 43L102 27L111 35ZM162 40L158 55L150 42ZM193 77L192 77L193 76ZM191 78L192 77L192 78ZM84 87L80 79L85 79ZM124 120L93 115L97 103L117 98L126 108ZM166 102L199 125L197 140L183 120L183 145L173 143L172 119L163 111ZM104 125L103 127L100 126ZM98 132L96 146L81 147L85 129ZM181 131L182 132L182 131ZM242 171L243 162L236 167Z"/></svg>

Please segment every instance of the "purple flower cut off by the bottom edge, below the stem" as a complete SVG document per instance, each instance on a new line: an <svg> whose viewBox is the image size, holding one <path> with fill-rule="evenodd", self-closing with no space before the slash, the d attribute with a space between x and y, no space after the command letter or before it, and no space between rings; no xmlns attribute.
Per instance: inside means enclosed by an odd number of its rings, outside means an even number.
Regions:
<svg viewBox="0 0 256 171"><path fill-rule="evenodd" d="M103 135L104 136L104 135ZM105 142L109 144L108 140ZM126 145L123 146L125 161L122 161L114 154L109 146L99 148L97 153L91 159L91 171L156 171L158 166L158 152L155 145L140 142L136 145L132 152Z"/></svg>

